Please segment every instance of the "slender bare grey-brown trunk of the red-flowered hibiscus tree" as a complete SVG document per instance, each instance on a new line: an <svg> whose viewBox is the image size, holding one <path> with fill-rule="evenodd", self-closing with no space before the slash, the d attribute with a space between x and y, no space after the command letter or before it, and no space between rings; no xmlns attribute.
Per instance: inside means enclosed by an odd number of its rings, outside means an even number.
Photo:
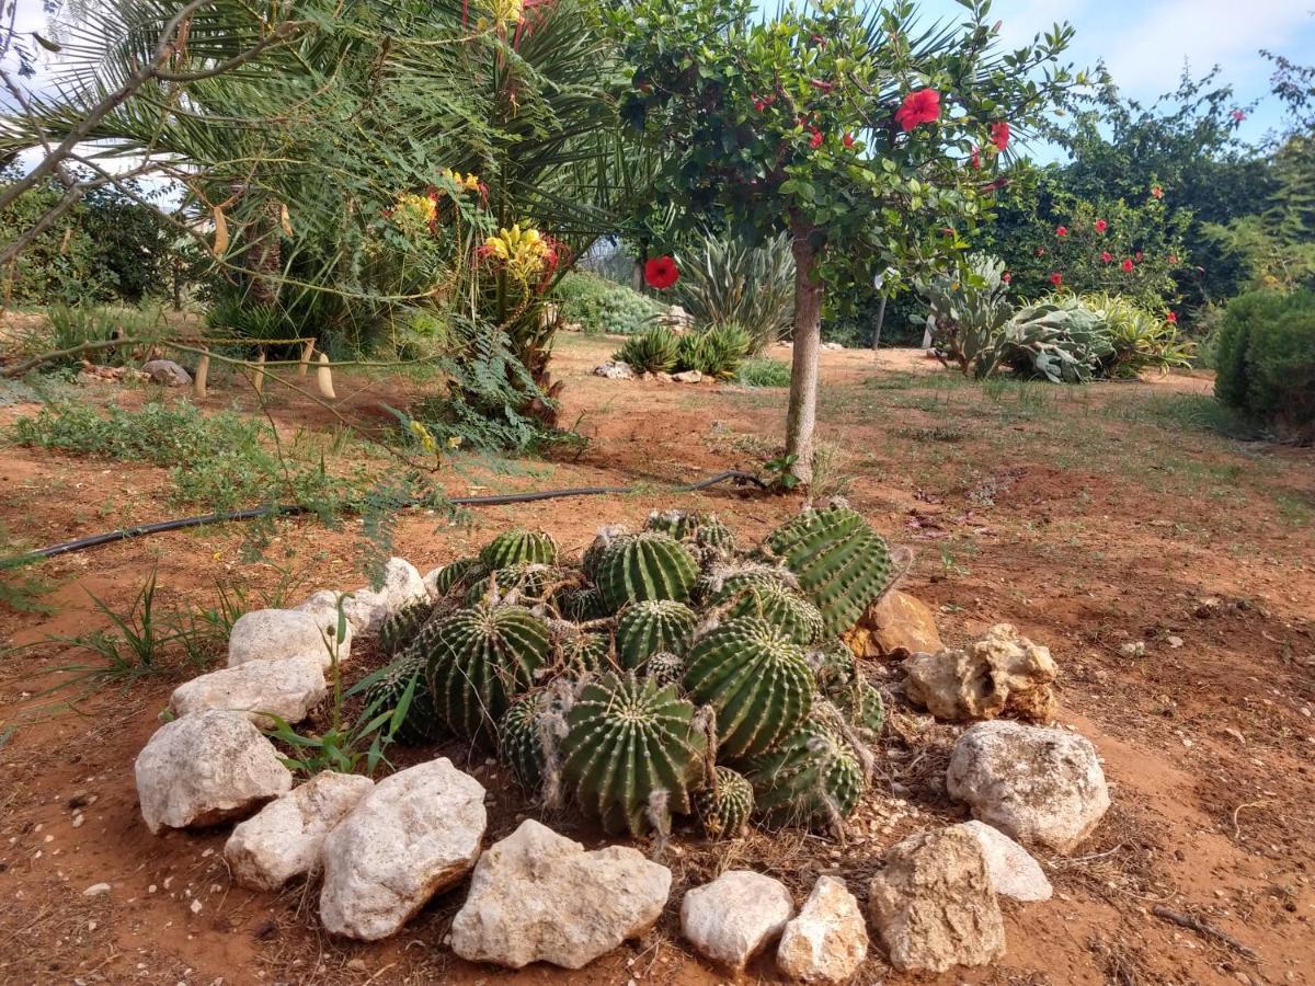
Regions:
<svg viewBox="0 0 1315 986"><path fill-rule="evenodd" d="M794 254L794 359L790 408L785 415L785 452L801 484L813 482L813 429L818 409L818 351L822 347L822 283L817 279L817 227L790 214Z"/></svg>

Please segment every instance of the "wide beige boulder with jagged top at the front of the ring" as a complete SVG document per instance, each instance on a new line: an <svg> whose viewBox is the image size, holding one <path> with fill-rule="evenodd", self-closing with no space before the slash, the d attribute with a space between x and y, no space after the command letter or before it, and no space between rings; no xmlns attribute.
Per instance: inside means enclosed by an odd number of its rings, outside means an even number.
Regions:
<svg viewBox="0 0 1315 986"><path fill-rule="evenodd" d="M452 951L472 962L580 969L648 931L671 893L671 870L621 845L580 843L526 819L475 866L452 919Z"/></svg>

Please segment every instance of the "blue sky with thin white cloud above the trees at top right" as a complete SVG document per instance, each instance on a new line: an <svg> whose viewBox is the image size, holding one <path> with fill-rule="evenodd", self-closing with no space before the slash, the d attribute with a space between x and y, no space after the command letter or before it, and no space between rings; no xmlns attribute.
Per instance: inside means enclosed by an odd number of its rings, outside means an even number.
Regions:
<svg viewBox="0 0 1315 986"><path fill-rule="evenodd" d="M926 17L964 13L953 0L919 7ZM990 17L1010 46L1068 21L1077 34L1065 58L1080 68L1103 60L1120 92L1144 103L1176 88L1184 66L1199 76L1218 64L1239 106L1260 100L1239 130L1253 143L1282 122L1260 50L1315 62L1315 0L993 0Z"/></svg>

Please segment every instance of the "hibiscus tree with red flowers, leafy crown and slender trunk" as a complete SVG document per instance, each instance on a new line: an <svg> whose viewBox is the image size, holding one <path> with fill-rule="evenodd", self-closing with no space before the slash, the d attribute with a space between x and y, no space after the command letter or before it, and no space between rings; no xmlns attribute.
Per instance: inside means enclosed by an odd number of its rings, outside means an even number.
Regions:
<svg viewBox="0 0 1315 986"><path fill-rule="evenodd" d="M914 5L815 0L775 20L753 0L631 0L608 17L631 72L622 112L655 151L663 200L796 260L786 452L811 480L826 292L899 289L967 255L1011 135L1081 80L1056 26L1002 53L986 4L919 26Z"/></svg>

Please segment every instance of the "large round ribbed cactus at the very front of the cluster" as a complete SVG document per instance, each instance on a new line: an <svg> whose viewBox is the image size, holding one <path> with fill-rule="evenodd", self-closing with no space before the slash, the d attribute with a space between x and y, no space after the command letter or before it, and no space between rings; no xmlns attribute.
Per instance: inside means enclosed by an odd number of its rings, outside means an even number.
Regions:
<svg viewBox="0 0 1315 986"><path fill-rule="evenodd" d="M690 810L706 745L694 706L672 685L605 674L584 686L567 715L562 770L608 832L667 831L673 811Z"/></svg>

